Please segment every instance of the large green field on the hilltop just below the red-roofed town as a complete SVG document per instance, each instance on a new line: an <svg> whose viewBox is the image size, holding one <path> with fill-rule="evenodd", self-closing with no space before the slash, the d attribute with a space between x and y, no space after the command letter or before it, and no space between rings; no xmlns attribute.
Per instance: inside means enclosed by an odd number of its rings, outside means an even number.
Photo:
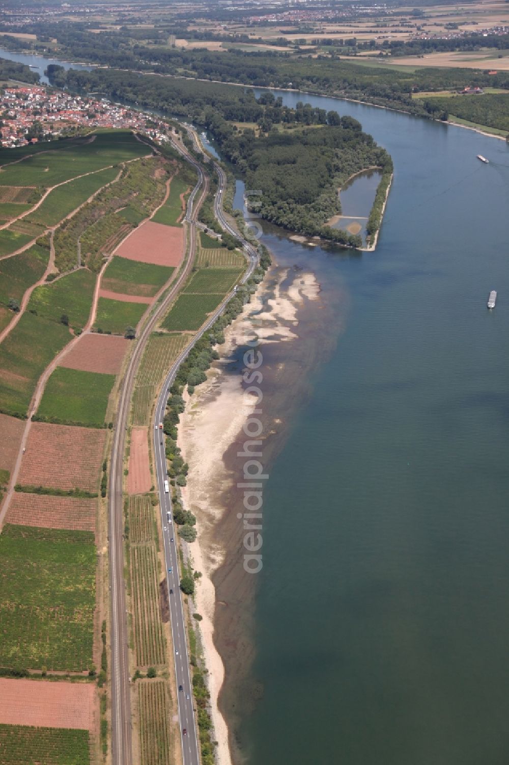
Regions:
<svg viewBox="0 0 509 765"><path fill-rule="evenodd" d="M111 134L99 133L92 142L52 150L46 144L44 152L31 155L18 164L8 164L0 171L2 186L50 187L69 181L84 173L107 168L109 165L150 154L147 146L136 141L127 130Z"/></svg>

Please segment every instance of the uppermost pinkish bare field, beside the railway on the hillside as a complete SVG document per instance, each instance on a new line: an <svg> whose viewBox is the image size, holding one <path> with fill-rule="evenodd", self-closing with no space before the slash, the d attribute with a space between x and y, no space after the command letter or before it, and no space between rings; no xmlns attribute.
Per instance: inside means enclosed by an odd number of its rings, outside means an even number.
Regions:
<svg viewBox="0 0 509 765"><path fill-rule="evenodd" d="M125 239L115 255L142 263L180 265L183 257L183 229L148 220Z"/></svg>

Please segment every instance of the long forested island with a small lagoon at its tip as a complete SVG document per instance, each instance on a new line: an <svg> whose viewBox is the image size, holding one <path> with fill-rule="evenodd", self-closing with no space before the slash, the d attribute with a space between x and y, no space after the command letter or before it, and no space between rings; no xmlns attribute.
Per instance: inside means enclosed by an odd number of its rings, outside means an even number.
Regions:
<svg viewBox="0 0 509 765"><path fill-rule="evenodd" d="M271 93L257 100L252 90L235 86L118 70L66 72L53 67L52 75L60 86L105 93L206 127L247 187L262 191L257 212L306 236L361 246L358 234L326 226L326 220L341 212L338 189L352 174L378 167L385 193L392 174L391 157L362 132L360 122L310 104L290 109ZM377 204L368 222L370 236L378 230L380 216Z"/></svg>

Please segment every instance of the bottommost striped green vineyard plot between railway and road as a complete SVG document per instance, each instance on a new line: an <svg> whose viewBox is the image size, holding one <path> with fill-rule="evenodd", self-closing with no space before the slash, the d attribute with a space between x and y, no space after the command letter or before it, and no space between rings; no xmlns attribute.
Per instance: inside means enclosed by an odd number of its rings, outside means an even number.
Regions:
<svg viewBox="0 0 509 765"><path fill-rule="evenodd" d="M141 765L167 765L170 750L170 704L166 683L140 682L138 684L140 708L140 763Z"/></svg>

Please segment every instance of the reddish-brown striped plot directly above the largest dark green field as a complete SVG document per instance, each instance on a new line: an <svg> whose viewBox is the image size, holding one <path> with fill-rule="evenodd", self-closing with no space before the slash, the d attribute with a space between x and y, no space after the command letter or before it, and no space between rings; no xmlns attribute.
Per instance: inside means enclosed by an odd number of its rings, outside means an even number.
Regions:
<svg viewBox="0 0 509 765"><path fill-rule="evenodd" d="M41 526L44 529L96 531L97 500L73 496L24 494L16 491L7 513L7 523Z"/></svg>

